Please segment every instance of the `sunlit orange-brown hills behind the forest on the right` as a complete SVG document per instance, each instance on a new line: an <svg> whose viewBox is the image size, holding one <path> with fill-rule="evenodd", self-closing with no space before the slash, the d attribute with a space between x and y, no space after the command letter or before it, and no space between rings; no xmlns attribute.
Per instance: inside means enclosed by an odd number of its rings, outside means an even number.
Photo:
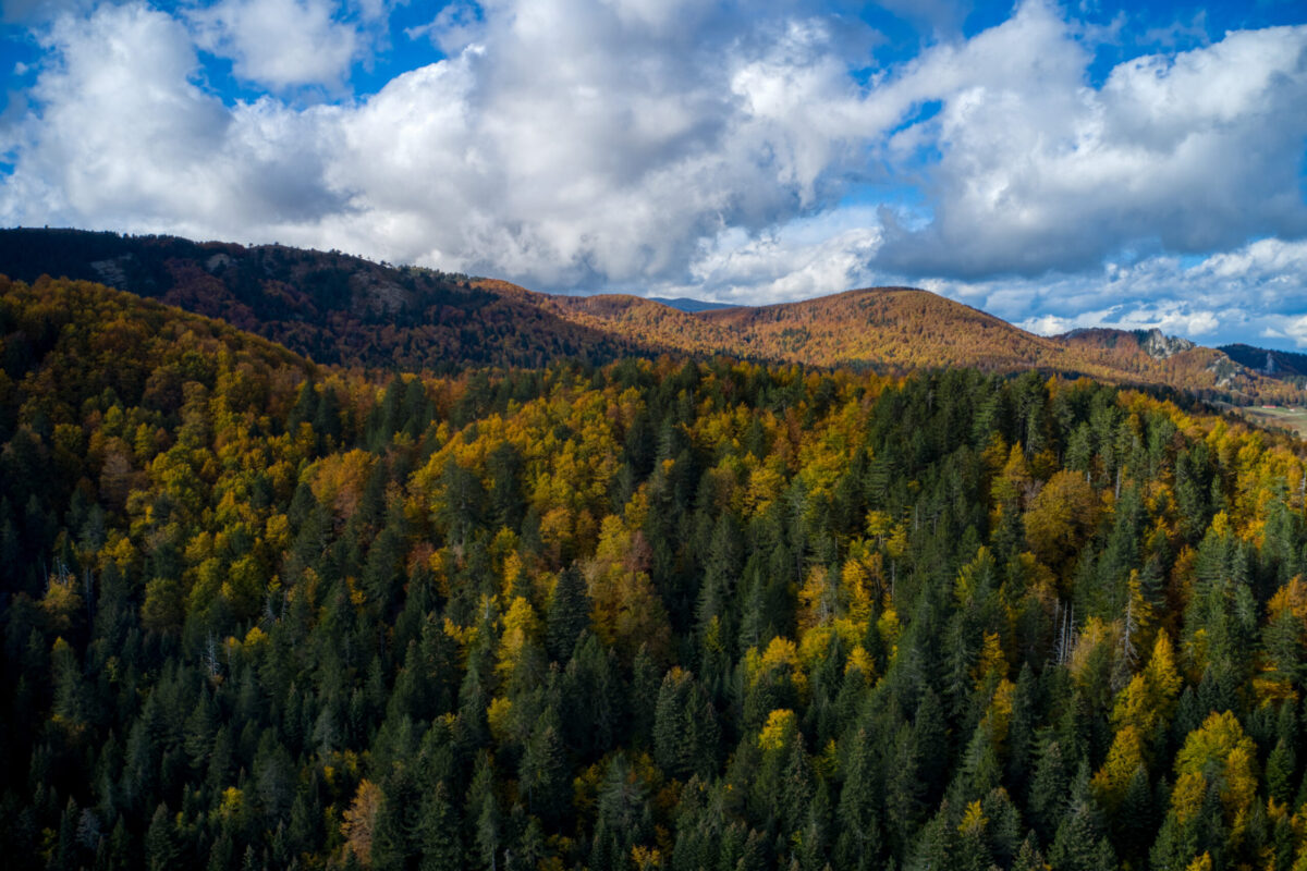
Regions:
<svg viewBox="0 0 1307 871"><path fill-rule="evenodd" d="M552 296L567 320L634 334L657 349L889 372L966 366L1043 370L1116 384L1166 385L1235 402L1307 401L1299 389L1223 353L1157 330L1078 330L1046 338L911 287L851 290L778 306L687 315L637 296Z"/></svg>

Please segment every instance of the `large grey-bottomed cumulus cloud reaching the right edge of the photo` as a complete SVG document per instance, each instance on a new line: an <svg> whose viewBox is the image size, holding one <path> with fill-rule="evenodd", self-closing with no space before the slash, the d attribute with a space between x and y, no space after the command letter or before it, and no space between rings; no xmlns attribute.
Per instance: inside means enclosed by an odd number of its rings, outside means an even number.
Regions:
<svg viewBox="0 0 1307 871"><path fill-rule="evenodd" d="M938 149L933 219L889 221L880 262L908 274L1035 276L1134 251L1206 252L1307 232L1307 27L1227 34L1138 57L1100 89L1089 52L1040 3L928 51L886 90L942 108L891 141ZM874 99L874 95L873 95Z"/></svg>

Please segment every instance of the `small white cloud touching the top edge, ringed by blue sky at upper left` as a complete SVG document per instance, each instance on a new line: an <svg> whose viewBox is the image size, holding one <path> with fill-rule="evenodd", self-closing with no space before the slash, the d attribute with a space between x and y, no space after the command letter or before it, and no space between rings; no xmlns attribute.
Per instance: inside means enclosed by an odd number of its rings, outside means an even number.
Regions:
<svg viewBox="0 0 1307 871"><path fill-rule="evenodd" d="M382 5L371 5L379 14ZM200 47L230 57L246 81L273 90L337 89L348 77L358 34L336 13L331 0L221 0L190 18Z"/></svg>

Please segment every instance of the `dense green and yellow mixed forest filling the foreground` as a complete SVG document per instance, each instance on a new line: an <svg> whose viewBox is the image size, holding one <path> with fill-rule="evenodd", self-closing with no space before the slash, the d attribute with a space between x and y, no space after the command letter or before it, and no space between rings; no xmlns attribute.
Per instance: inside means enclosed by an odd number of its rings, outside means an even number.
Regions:
<svg viewBox="0 0 1307 871"><path fill-rule="evenodd" d="M0 281L12 868L1307 867L1300 443Z"/></svg>

